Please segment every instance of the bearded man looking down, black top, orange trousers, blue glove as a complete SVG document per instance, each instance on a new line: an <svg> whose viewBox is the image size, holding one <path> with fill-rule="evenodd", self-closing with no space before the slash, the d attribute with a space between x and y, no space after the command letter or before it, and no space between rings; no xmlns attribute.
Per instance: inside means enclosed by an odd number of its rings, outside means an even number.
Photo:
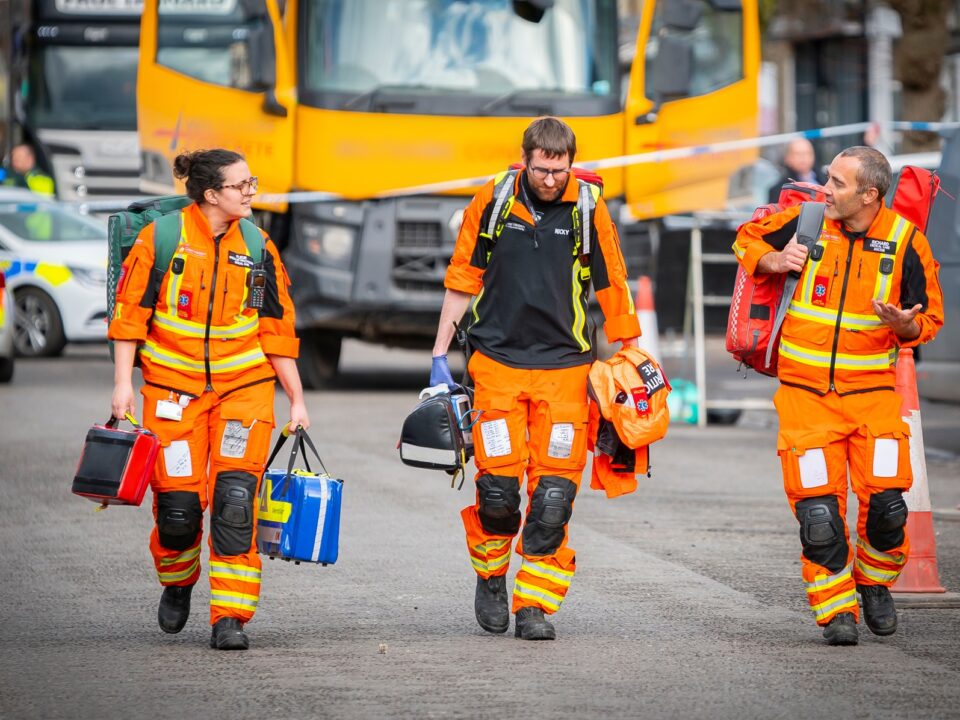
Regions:
<svg viewBox="0 0 960 720"><path fill-rule="evenodd" d="M634 345L640 334L616 229L596 188L572 177L575 154L573 131L540 118L523 136L524 167L491 180L471 201L444 281L430 374L431 385L454 384L446 352L474 296L477 499L461 513L477 573L474 609L488 632L509 628L505 576L526 473L512 609L516 635L527 640L554 639L544 613L559 609L576 567L567 522L586 463L591 277L610 342ZM592 225L578 207L584 193L595 203Z"/></svg>

